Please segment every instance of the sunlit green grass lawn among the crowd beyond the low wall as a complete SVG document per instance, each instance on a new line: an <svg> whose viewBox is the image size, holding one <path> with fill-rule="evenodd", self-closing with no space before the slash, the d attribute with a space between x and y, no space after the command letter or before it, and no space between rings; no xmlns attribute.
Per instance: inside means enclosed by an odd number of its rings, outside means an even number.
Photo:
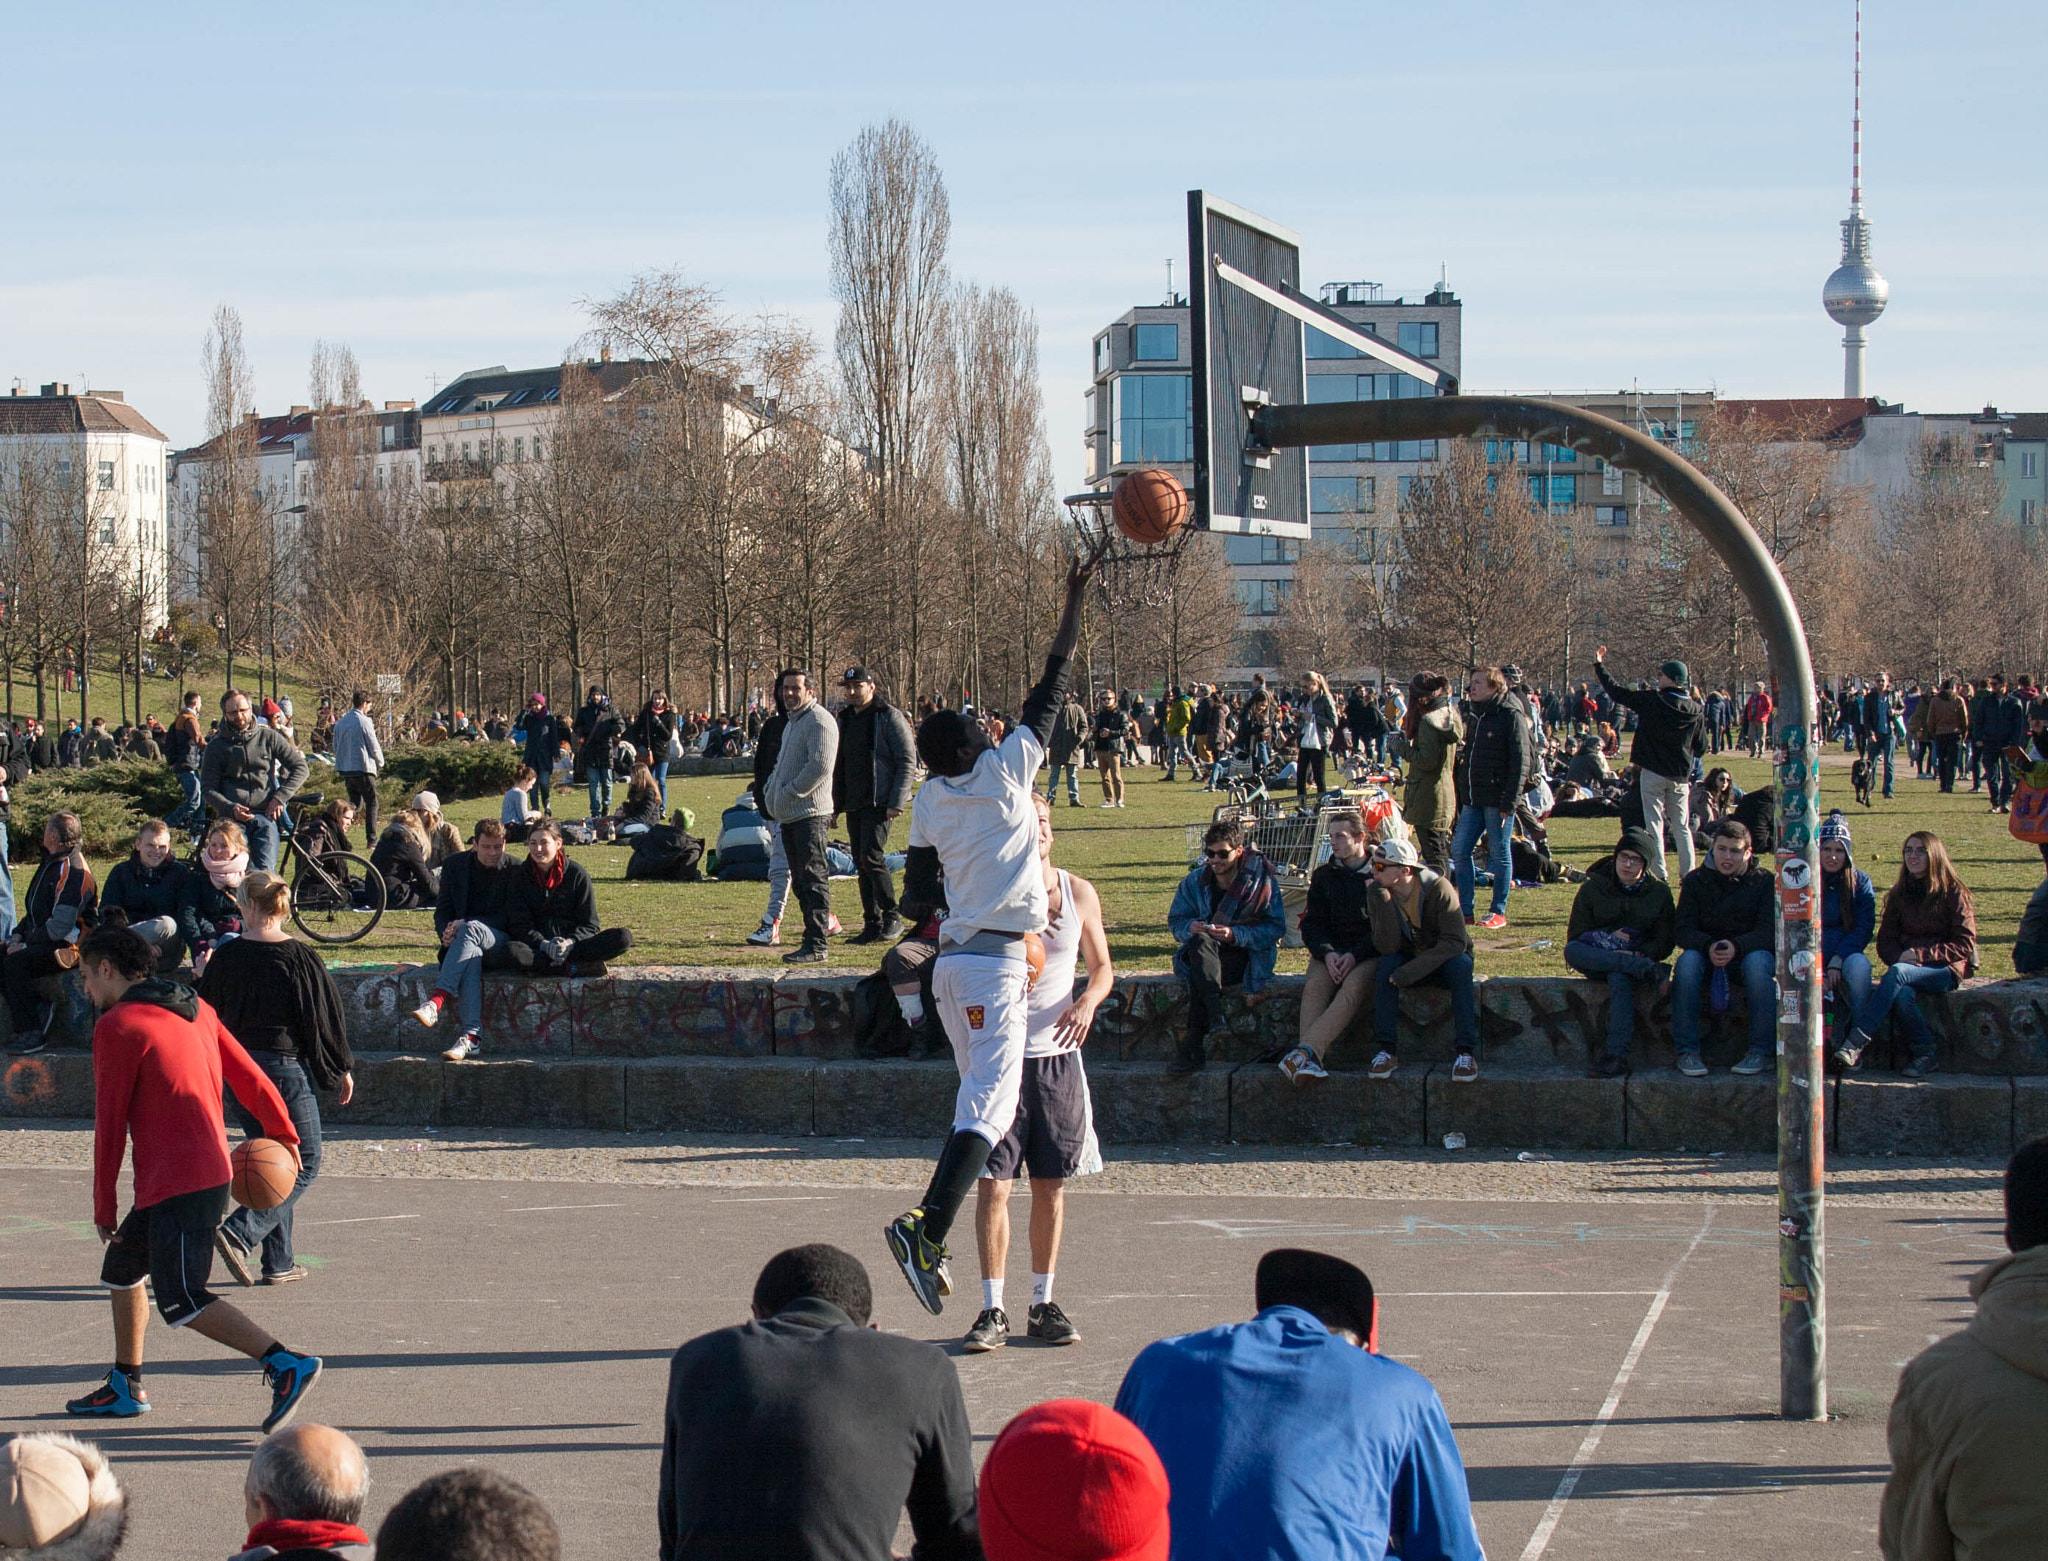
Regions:
<svg viewBox="0 0 2048 1561"><path fill-rule="evenodd" d="M1737 758L1737 785L1767 785L1767 764ZM1163 971L1174 948L1165 932L1165 912L1174 885L1186 873L1186 826L1210 815L1214 797L1186 780L1165 785L1157 770L1130 772L1128 807L1102 811L1100 791L1083 776L1083 805L1061 799L1055 813L1053 858L1094 881L1108 918L1110 948L1118 969ZM739 793L743 776L672 780L670 805L696 811L696 832L715 842L717 817ZM573 795L575 799L582 793ZM559 801L571 801L561 797ZM1849 799L1847 760L1831 756L1823 774L1821 811L1843 805L1855 832L1858 864L1884 887L1898 873L1898 846L1909 830L1931 828L1950 846L1956 867L1976 895L1985 973L2011 975L2011 942L2019 912L2042 879L2040 854L2013 840L2005 819L1993 815L1982 795L1958 791L1942 797L1933 780L1898 778L1898 797L1878 801L1868 813ZM449 815L469 832L479 817L498 815L498 799L453 803ZM1589 864L1612 848L1620 830L1614 819L1559 819L1552 848L1561 860ZM895 848L903 844L897 826ZM778 965L776 948L748 948L741 938L760 922L766 885L760 883L627 883L627 850L618 846L573 846L598 887L598 914L606 924L631 926L639 965ZM27 869L16 869L27 873ZM27 885L27 877L18 879ZM1481 934L1479 969L1485 975L1563 975L1565 924L1575 885L1516 889L1507 908L1509 928ZM831 885L834 910L852 930L860 926L860 893L852 879ZM1481 891L1483 899L1485 891ZM795 910L795 908L793 908ZM1538 946L1548 942L1548 946ZM432 914L391 912L365 942L338 953L340 961L424 961L432 957ZM1298 973L1307 955L1284 948L1280 969ZM836 953L834 965L864 971L874 955L864 948Z"/></svg>

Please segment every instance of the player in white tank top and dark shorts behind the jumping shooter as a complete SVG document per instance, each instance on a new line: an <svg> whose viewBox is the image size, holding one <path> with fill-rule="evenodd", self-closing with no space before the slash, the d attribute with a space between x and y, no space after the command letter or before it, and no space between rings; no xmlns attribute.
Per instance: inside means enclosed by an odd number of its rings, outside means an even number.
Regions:
<svg viewBox="0 0 2048 1561"><path fill-rule="evenodd" d="M1004 1311L1004 1268L1010 1262L1010 1184L1018 1166L1030 1172L1030 1313L1026 1334L1040 1344L1079 1344L1081 1334L1053 1301L1053 1266L1067 1223L1067 1178L1102 1170L1096 1112L1087 1098L1081 1043L1096 1008L1110 996L1110 940L1102 930L1096 885L1053 867L1053 805L1038 805L1038 867L1044 875L1044 969L1024 1000L1024 1084L1018 1114L989 1155L975 1205L975 1248L981 1252L981 1315L967 1330L969 1354L1010 1342ZM1075 959L1087 961L1087 985L1073 996Z"/></svg>

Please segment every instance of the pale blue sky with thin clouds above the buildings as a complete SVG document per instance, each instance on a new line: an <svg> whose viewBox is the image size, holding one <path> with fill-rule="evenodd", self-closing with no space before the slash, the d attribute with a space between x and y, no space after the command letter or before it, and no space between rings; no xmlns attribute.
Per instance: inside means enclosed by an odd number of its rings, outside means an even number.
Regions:
<svg viewBox="0 0 2048 1561"><path fill-rule="evenodd" d="M1311 285L1448 275L1470 391L1841 391L1849 0L0 10L0 379L174 445L223 301L264 410L322 338L375 399L559 361L655 268L829 346L827 166L887 117L954 275L1038 315L1063 492L1090 340L1169 258L1186 287L1194 186L1294 227ZM1866 6L1876 395L2048 410L2044 45L2048 6Z"/></svg>

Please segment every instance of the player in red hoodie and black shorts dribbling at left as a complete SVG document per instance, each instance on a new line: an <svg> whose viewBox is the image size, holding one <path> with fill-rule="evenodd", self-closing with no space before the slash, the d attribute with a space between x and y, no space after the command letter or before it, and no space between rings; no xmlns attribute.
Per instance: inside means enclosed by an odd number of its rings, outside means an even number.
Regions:
<svg viewBox="0 0 2048 1561"><path fill-rule="evenodd" d="M221 1088L233 1090L268 1137L299 1155L285 1098L190 987L156 979L156 951L125 926L102 926L78 948L92 1028L92 1223L106 1243L100 1282L113 1291L115 1366L63 1407L74 1416L141 1416L143 1280L172 1327L186 1327L262 1364L270 1385L264 1432L276 1430L319 1379L319 1356L287 1350L240 1309L207 1291L213 1233L227 1215L227 1127ZM115 1184L135 1143L135 1207L115 1225Z"/></svg>

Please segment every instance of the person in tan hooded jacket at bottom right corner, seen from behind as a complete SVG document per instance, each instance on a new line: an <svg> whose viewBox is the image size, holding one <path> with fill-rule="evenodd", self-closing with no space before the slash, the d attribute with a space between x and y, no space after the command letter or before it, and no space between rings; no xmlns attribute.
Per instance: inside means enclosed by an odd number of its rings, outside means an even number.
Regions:
<svg viewBox="0 0 2048 1561"><path fill-rule="evenodd" d="M1911 1557L2038 1557L2048 1534L2048 1139L2005 1166L2005 1246L1970 1280L1976 1315L1898 1377L1878 1549Z"/></svg>

